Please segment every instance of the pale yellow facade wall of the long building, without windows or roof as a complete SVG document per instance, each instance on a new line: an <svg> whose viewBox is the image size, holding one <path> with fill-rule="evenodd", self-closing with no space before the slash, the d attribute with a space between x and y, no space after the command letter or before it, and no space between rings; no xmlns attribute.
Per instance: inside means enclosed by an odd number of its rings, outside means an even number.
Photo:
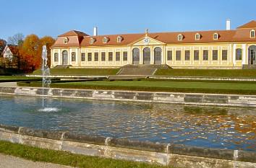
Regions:
<svg viewBox="0 0 256 168"><path fill-rule="evenodd" d="M73 67L120 67L127 64L132 64L132 50L134 48L140 49L140 64L143 63L143 52L145 47L151 50L150 64L154 63L154 48L160 47L162 49L162 63L174 68L242 68L243 64L248 63L248 48L253 43L202 43L202 44L163 44L161 42L150 40L150 43L145 45L141 41L131 45L122 46L103 46L90 48L53 48L51 49L51 67L61 65L61 53L67 50L69 61L68 64ZM242 60L237 61L236 48L242 49ZM167 61L167 52L172 50L172 61ZM181 50L181 61L176 61L176 50ZM190 60L185 61L185 50L190 50ZM199 61L194 61L194 50L200 50ZM203 50L208 50L208 61L203 61ZM218 50L218 61L213 61L213 50ZM227 61L222 60L222 50L228 50ZM123 61L123 52L127 51L127 61ZM76 61L72 61L71 53L76 53ZM98 61L94 61L94 53L98 52ZM106 61L101 61L101 52L106 52ZM113 52L113 61L108 61L108 52ZM120 52L120 61L116 61L116 52ZM54 53L59 53L59 60L54 62ZM81 53L85 53L85 61L81 60ZM88 53L92 53L92 61L88 61Z"/></svg>

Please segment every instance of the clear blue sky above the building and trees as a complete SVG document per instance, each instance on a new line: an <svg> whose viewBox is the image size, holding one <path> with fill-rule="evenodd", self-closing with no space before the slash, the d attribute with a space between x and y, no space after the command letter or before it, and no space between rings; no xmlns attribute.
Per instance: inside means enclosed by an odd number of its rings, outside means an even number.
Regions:
<svg viewBox="0 0 256 168"><path fill-rule="evenodd" d="M99 35L235 29L256 19L255 0L0 0L0 38L21 32L56 37L69 30Z"/></svg>

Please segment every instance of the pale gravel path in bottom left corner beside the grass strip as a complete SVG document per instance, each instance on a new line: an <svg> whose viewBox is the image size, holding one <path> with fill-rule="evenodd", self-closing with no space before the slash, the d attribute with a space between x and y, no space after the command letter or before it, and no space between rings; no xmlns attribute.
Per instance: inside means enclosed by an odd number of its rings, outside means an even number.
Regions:
<svg viewBox="0 0 256 168"><path fill-rule="evenodd" d="M33 162L25 159L20 159L14 156L0 154L0 168L71 168L61 166L59 164L50 164L45 162Z"/></svg>

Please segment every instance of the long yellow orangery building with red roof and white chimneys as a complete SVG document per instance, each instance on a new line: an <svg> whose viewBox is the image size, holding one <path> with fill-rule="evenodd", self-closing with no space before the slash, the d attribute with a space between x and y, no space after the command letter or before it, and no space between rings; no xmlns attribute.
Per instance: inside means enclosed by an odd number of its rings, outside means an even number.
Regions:
<svg viewBox="0 0 256 168"><path fill-rule="evenodd" d="M72 30L51 46L51 67L106 68L168 65L172 68L242 68L256 65L256 21L230 30L93 35Z"/></svg>

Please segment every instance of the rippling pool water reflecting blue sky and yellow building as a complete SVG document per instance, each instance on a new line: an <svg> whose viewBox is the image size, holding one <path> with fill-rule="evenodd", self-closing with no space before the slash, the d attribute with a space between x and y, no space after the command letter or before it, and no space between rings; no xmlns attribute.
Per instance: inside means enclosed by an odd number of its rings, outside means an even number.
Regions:
<svg viewBox="0 0 256 168"><path fill-rule="evenodd" d="M0 95L0 123L256 151L256 109ZM48 110L47 110L48 109ZM54 109L54 110L51 110Z"/></svg>

